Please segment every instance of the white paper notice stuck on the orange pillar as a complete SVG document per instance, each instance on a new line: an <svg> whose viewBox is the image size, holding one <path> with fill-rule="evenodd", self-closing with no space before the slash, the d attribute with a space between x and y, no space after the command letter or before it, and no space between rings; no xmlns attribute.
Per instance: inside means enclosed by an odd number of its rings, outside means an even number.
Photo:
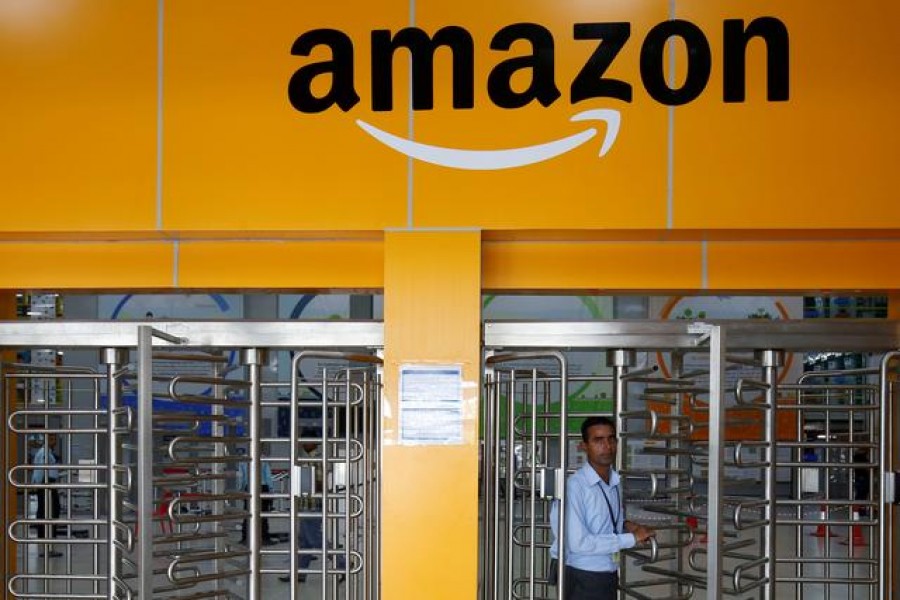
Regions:
<svg viewBox="0 0 900 600"><path fill-rule="evenodd" d="M462 367L400 367L400 443L462 443Z"/></svg>

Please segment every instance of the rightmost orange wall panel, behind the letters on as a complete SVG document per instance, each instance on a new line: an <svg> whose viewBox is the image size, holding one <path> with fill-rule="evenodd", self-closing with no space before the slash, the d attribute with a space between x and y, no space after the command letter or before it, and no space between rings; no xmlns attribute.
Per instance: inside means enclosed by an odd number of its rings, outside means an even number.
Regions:
<svg viewBox="0 0 900 600"><path fill-rule="evenodd" d="M900 52L889 28L900 3L678 0L678 18L704 30L723 18L775 15L791 42L791 99L764 101L764 47L750 47L745 104L708 93L674 122L676 228L877 228L900 224L894 200L900 134ZM713 56L721 36L711 35ZM684 55L679 54L683 74ZM894 73L894 75L889 75Z"/></svg>

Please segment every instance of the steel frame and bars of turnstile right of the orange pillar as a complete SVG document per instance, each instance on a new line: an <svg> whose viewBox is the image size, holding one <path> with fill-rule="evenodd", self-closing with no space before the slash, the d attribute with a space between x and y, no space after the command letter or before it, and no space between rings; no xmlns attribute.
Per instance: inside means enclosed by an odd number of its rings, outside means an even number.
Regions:
<svg viewBox="0 0 900 600"><path fill-rule="evenodd" d="M499 402L502 393L496 391L499 388L492 391L492 386L496 386L498 385L498 382L502 381L502 377L496 372L497 370L501 367L512 369L512 375L509 375L509 377L514 378L516 361L534 359L536 357L556 358L560 362L559 380L561 381L562 388L565 389L567 384L567 374L565 359L560 352L562 350L608 351L608 365L613 367L614 373L613 377L610 378L615 391L615 408L613 416L617 419L620 435L629 434L628 427L625 425L629 418L636 416L634 414L629 414L624 405L625 394L623 383L628 378L628 369L623 369L623 367L627 367L628 363L627 359L622 358L623 355L632 351L671 351L675 354L698 351L708 353L709 384L708 389L706 390L709 394L708 406L706 407L709 412L708 512L704 515L707 523L706 536L708 537L708 546L706 550L702 552L706 555L705 565L703 565L703 567L698 567L703 568L705 573L703 577L692 578L684 576L681 573L666 571L664 569L657 568L654 570L655 567L652 563L660 553L659 545L655 542L646 549L630 551L627 554L631 554L632 557L638 557L644 562L647 572L655 573L658 576L665 575L671 577L674 584L679 586L679 590L688 589L690 586L704 587L705 597L709 599L722 598L725 594L734 594L736 591L744 589L743 583L739 584L739 582L743 581L750 583L746 586L748 591L741 594L740 597L746 597L746 593L750 593L749 590L759 590L754 591L753 593L758 593L763 598L774 598L775 586L779 583L785 585L788 582L792 582L790 583L791 585L796 585L798 590L801 589L796 578L786 577L781 574L783 569L779 569L779 565L783 566L786 563L796 565L797 572L800 573L803 568L803 557L801 556L801 558L797 560L796 558L791 559L790 557L779 558L776 557L775 554L776 528L787 524L795 526L799 532L802 526L810 525L810 521L802 518L802 516L798 516L792 520L782 519L778 515L778 507L781 506L784 508L784 506L780 499L776 500L774 494L777 468L800 468L799 463L796 462L798 459L793 458L794 456L799 455L799 444L793 445L792 458L790 461L785 462L782 459L776 458L777 452L774 438L776 409L782 410L790 408L791 410L802 411L804 408L802 406L802 400L797 401L797 404L800 406L790 407L782 406L778 402L774 373L779 366L779 357L785 352L822 350L887 353L884 356L880 369L866 372L869 375L878 375L880 373L881 383L874 404L871 406L858 407L855 411L864 413L867 410L871 411L874 409L877 412L877 421L875 421L877 422L877 425L875 426L875 430L871 433L873 436L879 434L881 440L877 465L873 465L875 477L873 477L874 481L870 485L873 493L870 497L870 501L875 509L873 512L877 514L878 517L871 517L868 522L864 523L864 525L868 525L869 529L873 531L874 535L872 535L872 538L874 538L874 540L871 541L870 544L875 551L876 556L871 560L859 560L858 562L860 564L871 564L872 566L870 568L874 569L874 572L876 573L877 583L873 581L873 585L877 586L878 595L874 597L885 598L888 597L886 595L887 593L893 591L891 569L897 549L895 547L894 536L892 535L893 524L895 522L895 507L889 502L894 500L891 493L894 485L894 476L892 472L894 465L894 449L892 443L888 440L891 439L890 432L897 430L892 421L894 416L893 411L891 411L891 405L895 402L897 395L895 390L896 386L893 383L896 376L891 374L892 372L895 373L896 369L892 368L889 370L889 366L894 367L893 361L897 358L898 353L893 350L900 347L900 325L898 325L898 323L892 321L829 323L754 320L709 321L704 323L688 321L615 321L582 323L487 322L485 323L484 331L484 345L486 352L486 401L485 410L483 412L485 460L482 493L485 498L485 504L483 504L485 510L483 511L484 526L482 529L482 543L484 546L481 560L482 598L562 598L562 586L557 586L555 593L552 592L552 588L541 587L540 584L545 584L546 582L541 579L541 576L534 570L534 549L535 547L540 548L542 545L546 546L547 540L546 536L543 538L541 537L540 526L535 526L533 513L531 514L531 528L530 530L527 530L530 537L517 533L515 535L519 536L518 538L511 535L509 540L502 539L505 532L508 532L508 529L504 529L503 526L512 527L511 518L505 515L503 510L511 511L512 503L507 498L507 506L505 509L498 507L501 468L497 463L499 460L499 444L501 442L500 437L497 435L497 432L499 431L497 419L500 410L496 404ZM747 351L754 353L751 357L752 362L754 365L761 368L763 376L760 377L759 380L748 380L743 382L745 387L744 395L749 397L749 394L746 394L746 392L747 389L750 388L755 389L761 394L760 400L747 402L746 407L751 410L762 411L762 414L765 416L763 431L766 432L764 440L758 442L766 450L766 459L760 461L758 465L751 465L764 468L767 477L764 486L764 498L758 501L757 506L750 507L755 509L760 515L760 518L747 525L748 527L756 528L761 532L758 546L760 554L756 557L742 555L738 551L740 545L726 543L724 537L725 515L723 511L725 510L726 504L724 502L726 500L724 496L725 466L734 465L735 463L740 465L742 460L740 457L741 451L738 450L738 455L735 455L735 444L733 442L728 442L725 439L726 407L723 400L726 393L724 387L725 367L729 361L746 360L740 357L735 358L733 353ZM728 354L726 354L726 352ZM507 367L506 365L510 366ZM644 373L634 371L631 373L631 377L641 377L642 375L644 375ZM532 371L530 374L525 372L524 376L526 378L533 377L535 382L537 382L539 378L537 371ZM660 380L656 378L656 381ZM531 388L532 391L534 387L536 386ZM791 386L784 387L785 389L788 389ZM504 389L508 391L511 388L508 387ZM803 391L797 391L796 393L799 395L802 394ZM739 391L739 396L740 395L741 392ZM564 419L567 417L566 393L562 393L560 398L561 406L559 409L559 418L562 422L565 422ZM528 399L525 399L524 402L524 410L533 410L528 407ZM819 410L822 410L822 408L823 407L821 406L818 407ZM829 408L829 410L831 410L831 408ZM846 411L847 408L834 407L834 410ZM854 409L851 407L850 411L851 414L853 414ZM649 415L643 416L649 418ZM509 420L510 423L512 423L512 417L509 417ZM532 427L537 426L532 425ZM558 454L561 461L560 464L568 465L570 464L567 461L566 452L568 444L565 443L565 434L562 434L564 430L565 428L560 427L561 437L559 440ZM512 429L509 431L512 431ZM535 439L533 432L532 439ZM851 433L851 442L852 439ZM492 444L496 446L492 448ZM506 444L508 455L512 451L511 445L513 444L513 440L507 438ZM844 445L846 446L848 444L845 443ZM731 452L730 455L726 454L726 449ZM620 452L620 465L621 460L622 455ZM512 468L510 467L512 462L508 456L505 463L507 469ZM536 486L544 486L546 489L550 490L555 489L555 493L551 492L550 497L559 500L561 517L564 519L565 502L563 501L563 496L565 486L563 481L565 478L565 469L561 469L558 466L554 467L546 463L537 466L540 468L536 468L534 463L529 466L531 470L530 476L527 472L525 473L525 476L527 478L526 483L528 486L531 486L531 489L525 490L523 493L532 494L531 504L534 506L533 498L537 493L535 491ZM829 465L828 463L825 463L821 468L825 469L825 472L827 473L829 472L828 469L836 469L837 466L838 465ZM867 465L862 466L865 467ZM846 469L846 465L843 465L843 467L845 470L853 471L853 469ZM507 482L510 481L509 474L507 474L505 478ZM512 493L514 492L509 489L506 490L507 496ZM847 500L846 502L853 503L852 500ZM743 508L748 508L749 504L750 503ZM798 513L804 504L806 504L806 502L802 501L787 501L784 503L785 506L796 509ZM524 508L522 510L527 512ZM691 507L690 511L676 511L676 514L684 517L694 510L695 508ZM742 510L742 508L738 507L735 510ZM739 522L743 517L744 523L742 523L742 525L746 525L748 521L751 521L751 519L747 518L749 514L751 514L751 511L749 510L743 514L735 513L732 518L735 519L736 522ZM773 520L769 517L770 515L775 515L774 524L772 523ZM501 522L504 521L504 519L506 519L506 521ZM855 522L850 519L849 515L846 519L836 519L830 522L843 526L845 530L849 530L851 526L855 525ZM527 526L528 524L525 525L526 529ZM544 527L546 528L547 525L545 524ZM560 530L560 537L563 538L565 535L565 528L560 527ZM798 533L798 536L799 535L800 534ZM526 538L525 542L522 542L522 538ZM529 593L527 595L520 594L514 589L511 576L512 566L505 562L505 557L496 555L496 553L503 549L504 544L508 543L511 545L516 539L518 539L517 543L530 543L532 552L529 567L530 570L525 574L526 579L530 578ZM565 551L564 544L561 544L561 546L563 547L561 548L560 553L563 554ZM737 569L734 568L734 563L732 562L732 566L729 567L730 570L726 570L723 556L730 556L732 558L737 556L743 559L744 562L740 564ZM691 560L693 561L693 559L694 556L692 553ZM831 558L824 560L833 562L836 559ZM850 562L856 562L856 559L851 559ZM562 564L562 559L560 560L560 564ZM693 565L694 563L692 562L691 564ZM746 571L742 571L742 569L746 569ZM748 575L747 572L749 572L750 569L757 569L758 575ZM509 574L506 574L507 572ZM560 568L560 574L561 573L562 568ZM728 575L727 579L725 578L726 573ZM703 581L704 579L706 581ZM726 587L723 584L723 581L730 581L731 579L734 580L734 587ZM562 581L561 575L560 580ZM867 582L863 580L862 583ZM538 587L540 588L538 592L535 591L536 584L538 584ZM549 596L542 596L540 595L541 592L544 594L549 592ZM872 595L873 592L870 592L869 597L872 597ZM643 596L638 590L638 586L629 585L627 581L623 584L620 596L635 598L649 597ZM685 594L685 597L697 596L693 596L691 590L691 593Z"/></svg>

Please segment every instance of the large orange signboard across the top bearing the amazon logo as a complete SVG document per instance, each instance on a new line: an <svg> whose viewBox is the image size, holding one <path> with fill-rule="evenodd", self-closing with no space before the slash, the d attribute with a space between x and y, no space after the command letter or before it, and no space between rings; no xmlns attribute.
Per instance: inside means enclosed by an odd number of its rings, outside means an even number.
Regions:
<svg viewBox="0 0 900 600"><path fill-rule="evenodd" d="M0 19L6 231L900 223L896 3L51 4Z"/></svg>

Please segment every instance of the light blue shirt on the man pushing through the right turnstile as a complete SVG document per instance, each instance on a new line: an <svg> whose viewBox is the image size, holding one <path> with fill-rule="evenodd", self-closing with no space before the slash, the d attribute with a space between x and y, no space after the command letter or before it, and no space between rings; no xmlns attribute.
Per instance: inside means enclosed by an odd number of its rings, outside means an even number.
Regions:
<svg viewBox="0 0 900 600"><path fill-rule="evenodd" d="M616 533L624 531L625 526L619 481L615 470L610 470L609 483L606 483L590 463L584 463L566 482L566 564L570 567L583 571L618 571L613 554L634 546L634 534ZM559 501L556 501L550 510L553 530L550 556L554 558L559 556L558 523Z"/></svg>

